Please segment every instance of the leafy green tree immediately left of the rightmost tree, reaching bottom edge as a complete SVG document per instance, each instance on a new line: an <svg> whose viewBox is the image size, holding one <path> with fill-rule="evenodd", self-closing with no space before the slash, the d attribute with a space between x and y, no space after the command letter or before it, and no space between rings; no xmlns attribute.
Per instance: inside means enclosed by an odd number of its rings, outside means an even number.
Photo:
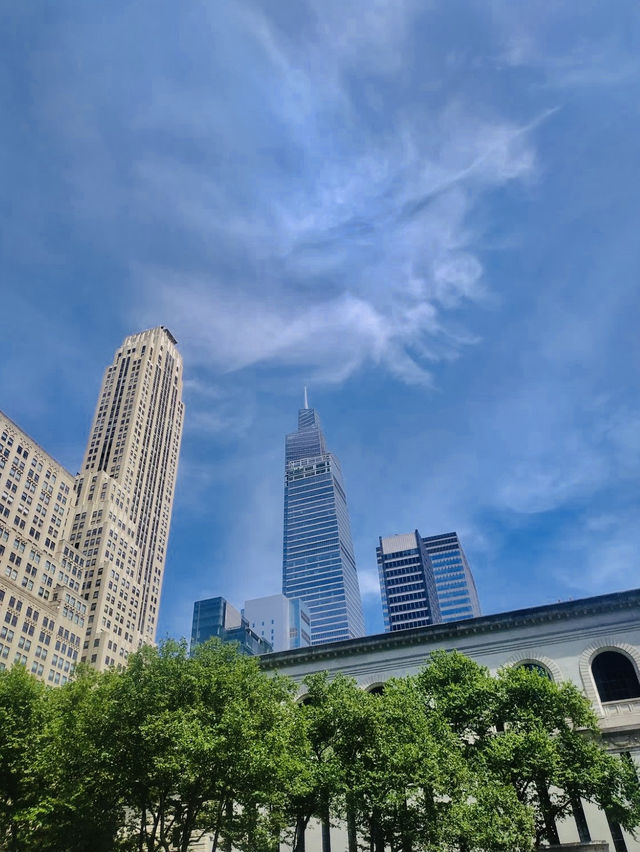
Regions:
<svg viewBox="0 0 640 852"><path fill-rule="evenodd" d="M361 832L375 852L530 848L530 814L508 787L474 771L465 737L424 701L416 678L388 682L369 702L375 736L352 777Z"/></svg>

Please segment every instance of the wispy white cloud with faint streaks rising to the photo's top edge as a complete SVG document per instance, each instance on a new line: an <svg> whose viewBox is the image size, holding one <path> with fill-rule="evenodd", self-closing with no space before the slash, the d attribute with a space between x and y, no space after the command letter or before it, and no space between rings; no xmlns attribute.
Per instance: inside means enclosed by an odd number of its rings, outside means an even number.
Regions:
<svg viewBox="0 0 640 852"><path fill-rule="evenodd" d="M375 364L429 385L434 363L475 340L454 320L491 289L471 214L486 193L535 175L535 121L520 126L447 101L403 109L382 133L372 127L370 135L355 135L350 126L364 128L368 118L348 85L350 51L371 48L371 40L354 35L329 45L331 9L316 10L316 30L295 41L265 15L249 16L280 82L273 160L260 160L265 171L254 174L250 212L229 204L206 164L186 173L166 158L140 164L140 197L153 199L155 210L167 211L174 227L197 234L209 250L188 271L136 265L146 294L138 315L171 316L193 358L216 370L293 366L336 382ZM387 21L385 44L401 55L412 9L376 4L365 29L382 37ZM391 72L393 63L377 67L378 77ZM179 92L174 97L179 101ZM159 120L146 118L155 131ZM278 149L305 165L300 182L278 183ZM242 274L232 264L232 286L209 270L210 252L221 244L252 258Z"/></svg>

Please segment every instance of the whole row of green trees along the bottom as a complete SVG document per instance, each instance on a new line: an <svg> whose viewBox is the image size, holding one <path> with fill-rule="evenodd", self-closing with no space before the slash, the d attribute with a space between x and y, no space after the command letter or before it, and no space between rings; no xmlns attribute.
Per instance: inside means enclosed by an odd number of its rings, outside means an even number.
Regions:
<svg viewBox="0 0 640 852"><path fill-rule="evenodd" d="M381 695L326 673L297 689L216 641L55 690L0 672L0 850L186 852L207 833L304 852L317 820L324 852L336 821L349 852L529 852L580 799L640 823L633 765L570 684L440 652Z"/></svg>

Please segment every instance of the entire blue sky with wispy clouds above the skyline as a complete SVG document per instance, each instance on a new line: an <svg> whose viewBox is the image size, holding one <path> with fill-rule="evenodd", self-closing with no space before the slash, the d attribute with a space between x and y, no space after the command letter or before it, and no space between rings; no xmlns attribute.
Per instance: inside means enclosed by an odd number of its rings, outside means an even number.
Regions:
<svg viewBox="0 0 640 852"><path fill-rule="evenodd" d="M168 326L160 635L280 591L303 386L378 536L456 530L484 613L638 586L635 0L0 0L0 408L72 472Z"/></svg>

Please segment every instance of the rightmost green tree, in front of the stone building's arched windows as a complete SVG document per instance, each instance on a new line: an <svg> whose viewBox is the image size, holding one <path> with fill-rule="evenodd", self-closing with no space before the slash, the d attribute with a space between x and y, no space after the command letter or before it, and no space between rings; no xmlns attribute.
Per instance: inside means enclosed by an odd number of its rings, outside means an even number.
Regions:
<svg viewBox="0 0 640 852"><path fill-rule="evenodd" d="M458 652L433 654L417 683L425 707L456 733L468 771L487 789L507 782L511 799L529 811L536 844L558 842L556 822L580 798L626 828L638 825L633 767L607 753L593 710L573 685L523 667L491 677ZM486 798L482 785L472 795Z"/></svg>

